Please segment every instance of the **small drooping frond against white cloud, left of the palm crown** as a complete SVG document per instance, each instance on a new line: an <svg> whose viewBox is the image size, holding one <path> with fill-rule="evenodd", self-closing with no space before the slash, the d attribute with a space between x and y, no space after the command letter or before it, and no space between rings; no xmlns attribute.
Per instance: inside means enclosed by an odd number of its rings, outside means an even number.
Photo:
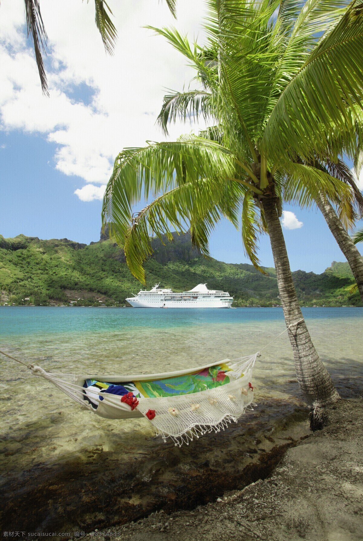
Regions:
<svg viewBox="0 0 363 541"><path fill-rule="evenodd" d="M164 96L157 124L167 134L167 124L175 122L177 117L185 122L187 118L190 120L192 117L197 121L202 115L204 120L207 120L213 111L211 97L211 93L205 90L168 94Z"/></svg>

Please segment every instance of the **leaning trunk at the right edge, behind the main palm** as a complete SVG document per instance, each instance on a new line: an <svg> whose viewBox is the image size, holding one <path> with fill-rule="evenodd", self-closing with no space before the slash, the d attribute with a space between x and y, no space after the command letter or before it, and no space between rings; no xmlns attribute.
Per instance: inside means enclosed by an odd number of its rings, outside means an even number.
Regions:
<svg viewBox="0 0 363 541"><path fill-rule="evenodd" d="M321 210L322 215L325 217L328 227L333 233L334 239L338 242L339 248L346 256L363 301L363 258L351 237L343 228L341 221L335 214L335 210L329 201L321 195L320 199L316 200L316 204Z"/></svg>

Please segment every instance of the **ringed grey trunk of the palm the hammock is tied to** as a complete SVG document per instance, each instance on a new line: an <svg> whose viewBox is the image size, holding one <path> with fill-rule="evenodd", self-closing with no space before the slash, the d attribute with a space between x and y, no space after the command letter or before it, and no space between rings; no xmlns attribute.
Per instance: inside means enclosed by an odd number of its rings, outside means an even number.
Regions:
<svg viewBox="0 0 363 541"><path fill-rule="evenodd" d="M278 219L275 199L261 201L274 255L278 291L286 325L289 327L303 319L291 275L285 240ZM320 408L339 399L333 381L316 353L305 321L288 330L294 352L297 381L310 407Z"/></svg>

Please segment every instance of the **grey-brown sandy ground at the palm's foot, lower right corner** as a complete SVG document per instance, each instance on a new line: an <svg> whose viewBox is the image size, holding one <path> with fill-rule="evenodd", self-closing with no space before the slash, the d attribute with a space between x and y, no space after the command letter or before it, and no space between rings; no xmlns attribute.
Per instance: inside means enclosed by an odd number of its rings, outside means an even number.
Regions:
<svg viewBox="0 0 363 541"><path fill-rule="evenodd" d="M327 426L290 447L267 479L110 530L130 541L363 539L363 399L341 400L327 414Z"/></svg>

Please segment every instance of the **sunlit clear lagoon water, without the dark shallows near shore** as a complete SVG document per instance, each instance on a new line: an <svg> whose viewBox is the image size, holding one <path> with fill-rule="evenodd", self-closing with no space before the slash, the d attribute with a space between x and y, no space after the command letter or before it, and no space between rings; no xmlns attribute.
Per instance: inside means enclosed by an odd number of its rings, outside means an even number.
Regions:
<svg viewBox="0 0 363 541"><path fill-rule="evenodd" d="M363 308L302 311L340 393L358 392ZM0 349L48 371L66 373L192 368L259 351L285 328L281 308L0 307ZM81 411L49 382L0 357L4 480L37 464L82 459L92 446L120 454L160 445L147 420L106 420ZM255 367L254 385L257 403L266 399L301 403L287 333L264 350Z"/></svg>

